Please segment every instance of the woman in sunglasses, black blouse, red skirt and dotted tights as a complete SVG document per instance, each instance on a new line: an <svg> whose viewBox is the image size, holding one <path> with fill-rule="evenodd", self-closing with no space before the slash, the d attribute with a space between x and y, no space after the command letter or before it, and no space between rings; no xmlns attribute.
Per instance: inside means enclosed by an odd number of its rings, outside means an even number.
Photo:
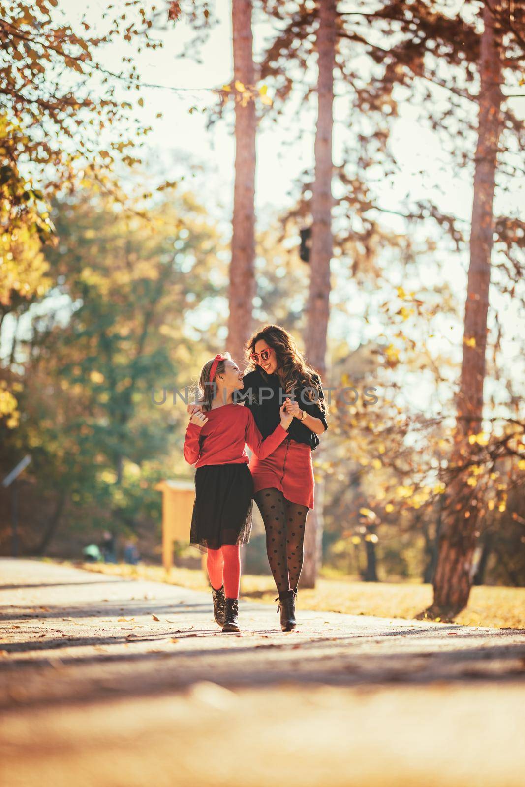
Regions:
<svg viewBox="0 0 525 787"><path fill-rule="evenodd" d="M296 626L295 597L304 557L306 515L314 505L312 450L327 430L327 410L319 375L306 363L283 327L267 325L246 345L250 366L238 395L245 398L263 437L279 423L285 397L294 416L288 436L265 459L253 456L253 497L266 531L266 551L279 592L281 628ZM200 405L189 405L195 412ZM277 599L275 599L277 600Z"/></svg>

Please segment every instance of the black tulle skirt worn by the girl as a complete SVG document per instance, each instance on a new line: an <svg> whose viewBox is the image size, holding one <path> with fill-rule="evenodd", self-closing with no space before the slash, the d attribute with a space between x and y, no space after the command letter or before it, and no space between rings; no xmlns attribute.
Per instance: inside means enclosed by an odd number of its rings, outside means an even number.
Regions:
<svg viewBox="0 0 525 787"><path fill-rule="evenodd" d="M205 464L195 471L190 544L201 552L247 544L252 530L253 478L247 464Z"/></svg>

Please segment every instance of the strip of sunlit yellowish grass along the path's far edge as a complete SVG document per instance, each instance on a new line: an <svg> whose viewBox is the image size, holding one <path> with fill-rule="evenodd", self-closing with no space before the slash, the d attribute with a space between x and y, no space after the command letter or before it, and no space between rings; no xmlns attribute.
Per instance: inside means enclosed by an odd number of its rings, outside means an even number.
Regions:
<svg viewBox="0 0 525 787"><path fill-rule="evenodd" d="M124 563L75 563L87 571L168 582L191 590L208 590L203 571L173 567L169 575L161 566L128 566ZM273 603L277 592L270 576L243 575L241 598ZM379 618L413 619L431 604L431 585L412 582L355 582L320 578L316 589L299 589L298 609L377 615ZM477 586L468 607L455 619L463 626L525 629L525 588Z"/></svg>

